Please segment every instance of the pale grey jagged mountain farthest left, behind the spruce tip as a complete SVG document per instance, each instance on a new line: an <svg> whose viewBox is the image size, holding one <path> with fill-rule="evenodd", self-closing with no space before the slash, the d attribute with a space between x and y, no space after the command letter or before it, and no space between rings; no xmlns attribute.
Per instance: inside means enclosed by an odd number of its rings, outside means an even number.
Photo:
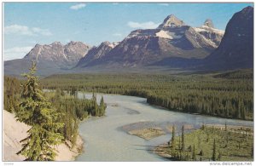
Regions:
<svg viewBox="0 0 256 166"><path fill-rule="evenodd" d="M65 71L75 66L89 49L88 45L73 41L66 45L60 42L49 45L36 44L23 59L5 61L4 74L20 76L21 73L27 72L32 60L38 62L39 75Z"/></svg>

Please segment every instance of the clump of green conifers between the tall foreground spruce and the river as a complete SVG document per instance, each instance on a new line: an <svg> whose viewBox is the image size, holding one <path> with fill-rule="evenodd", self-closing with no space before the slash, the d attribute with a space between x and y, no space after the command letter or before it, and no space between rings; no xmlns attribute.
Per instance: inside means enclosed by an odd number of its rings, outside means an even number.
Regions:
<svg viewBox="0 0 256 166"><path fill-rule="evenodd" d="M64 123L64 127L60 132L65 140L70 140L73 145L75 145L79 134L79 121L88 116L101 117L107 108L103 97L100 105L97 104L96 94L93 94L91 99L79 99L77 91L64 92L61 89L56 89L54 92L45 93L45 95L55 110L61 113L58 121Z"/></svg>

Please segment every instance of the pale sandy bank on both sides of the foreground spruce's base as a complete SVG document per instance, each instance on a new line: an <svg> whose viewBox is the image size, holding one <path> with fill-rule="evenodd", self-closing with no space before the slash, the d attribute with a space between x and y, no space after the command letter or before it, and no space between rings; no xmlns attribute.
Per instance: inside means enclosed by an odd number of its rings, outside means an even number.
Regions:
<svg viewBox="0 0 256 166"><path fill-rule="evenodd" d="M28 129L30 126L16 121L14 114L3 110L3 161L15 162L25 159L22 155L16 155L16 152L20 151L20 140L26 138ZM55 147L57 150L55 161L74 161L84 151L84 141L80 135L76 145L73 148L70 145L70 142L66 141Z"/></svg>

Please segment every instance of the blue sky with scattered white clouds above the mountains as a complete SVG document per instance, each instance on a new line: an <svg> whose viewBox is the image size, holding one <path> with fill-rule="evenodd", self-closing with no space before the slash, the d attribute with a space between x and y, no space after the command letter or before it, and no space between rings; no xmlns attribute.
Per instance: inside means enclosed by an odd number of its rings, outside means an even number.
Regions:
<svg viewBox="0 0 256 166"><path fill-rule="evenodd" d="M189 26L211 18L224 30L233 14L252 3L4 3L3 60L59 41L90 46L122 41L131 31L157 27L169 14Z"/></svg>

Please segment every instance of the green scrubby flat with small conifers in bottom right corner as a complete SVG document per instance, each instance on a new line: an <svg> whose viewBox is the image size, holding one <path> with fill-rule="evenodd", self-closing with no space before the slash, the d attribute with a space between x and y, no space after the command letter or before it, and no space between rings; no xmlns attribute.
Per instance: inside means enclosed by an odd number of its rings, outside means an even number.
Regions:
<svg viewBox="0 0 256 166"><path fill-rule="evenodd" d="M247 129L230 128L227 131L208 126L205 126L205 129L196 129L185 134L186 147L184 151L176 147L174 152L170 148L164 148L163 152L170 154L172 160L179 161L195 161L197 158L200 161L253 161L253 131L244 135L243 133ZM199 136L201 137L201 148L195 139ZM228 143L226 136L229 137ZM178 136L177 139L180 140L181 137ZM192 152L189 152L190 146Z"/></svg>

